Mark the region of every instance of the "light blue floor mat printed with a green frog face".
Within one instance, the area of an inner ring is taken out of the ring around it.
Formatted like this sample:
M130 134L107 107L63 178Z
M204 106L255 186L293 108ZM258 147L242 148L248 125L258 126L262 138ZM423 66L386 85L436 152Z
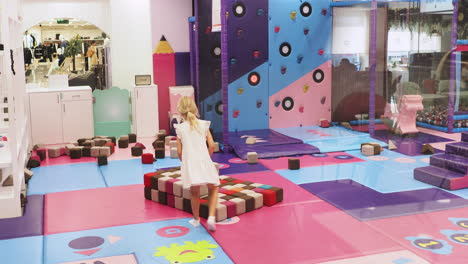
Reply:
M172 245L176 246L175 244L177 244L176 247L181 251L198 251L201 255L200 257L203 258L203 260L199 262L191 262L202 264L233 263L222 250L221 246L216 243L203 227L194 228L188 223L188 220L189 219L177 219L49 235L46 236L44 240L44 263L55 264L128 254L134 254L136 259L138 259L138 263L172 263L164 256L154 256L154 254L160 247L169 248ZM92 240L89 239L89 237L95 238ZM75 242L72 243L72 245L79 244L83 246L80 247L80 249L71 248L69 243L73 240L75 240ZM187 248L178 247L187 245L187 242L196 244L198 241L207 241L207 243L212 245L212 248L196 248L193 247L193 245ZM92 247L87 248L88 246ZM88 249L99 250L90 256L77 253L81 250ZM188 257L190 256L189 254L195 253L182 255ZM211 257L207 258L208 256ZM193 255L191 257L193 257ZM189 263L188 261L184 262L183 259L175 259L175 261Z

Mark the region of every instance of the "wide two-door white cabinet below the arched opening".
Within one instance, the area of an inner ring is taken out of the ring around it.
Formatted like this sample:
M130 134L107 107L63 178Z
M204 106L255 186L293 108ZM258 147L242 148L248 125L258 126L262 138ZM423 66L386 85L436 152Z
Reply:
M28 90L33 144L56 144L94 135L88 86Z

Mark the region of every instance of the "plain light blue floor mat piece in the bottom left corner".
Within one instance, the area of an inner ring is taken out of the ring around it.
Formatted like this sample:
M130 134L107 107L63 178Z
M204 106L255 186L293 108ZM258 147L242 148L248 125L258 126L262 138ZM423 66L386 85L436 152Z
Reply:
M2 264L42 264L42 259L42 236L0 240Z

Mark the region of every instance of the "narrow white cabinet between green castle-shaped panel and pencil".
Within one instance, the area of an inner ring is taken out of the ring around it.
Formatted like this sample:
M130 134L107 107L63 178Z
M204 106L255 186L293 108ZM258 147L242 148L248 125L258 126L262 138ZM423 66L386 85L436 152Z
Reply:
M158 87L134 86L133 130L139 137L152 137L159 131Z

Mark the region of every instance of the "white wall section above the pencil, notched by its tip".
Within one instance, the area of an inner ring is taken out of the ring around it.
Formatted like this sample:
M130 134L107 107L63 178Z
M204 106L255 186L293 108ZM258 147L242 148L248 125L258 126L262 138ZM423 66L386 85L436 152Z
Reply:
M175 52L190 51L188 18L192 0L151 0L153 51L164 35Z

